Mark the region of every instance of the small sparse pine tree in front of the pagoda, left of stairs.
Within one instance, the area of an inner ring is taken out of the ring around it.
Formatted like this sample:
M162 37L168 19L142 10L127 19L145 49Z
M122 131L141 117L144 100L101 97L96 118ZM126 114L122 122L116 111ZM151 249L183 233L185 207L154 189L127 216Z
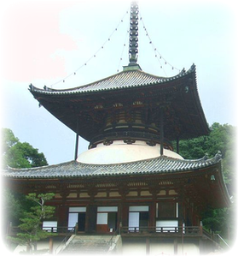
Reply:
M49 237L46 230L42 229L44 219L53 217L55 207L45 205L47 201L55 196L54 193L29 193L26 199L34 202L31 211L26 211L24 217L20 219L21 223L18 226L20 232L16 237L7 236L9 241L14 241L20 245L26 245L26 253L32 253L32 248L37 250L37 241Z

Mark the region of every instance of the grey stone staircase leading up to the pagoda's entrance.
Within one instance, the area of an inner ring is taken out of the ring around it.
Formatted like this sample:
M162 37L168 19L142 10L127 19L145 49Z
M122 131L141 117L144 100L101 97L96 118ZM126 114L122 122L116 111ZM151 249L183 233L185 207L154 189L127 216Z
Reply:
M58 256L106 256L111 244L110 235L75 235Z

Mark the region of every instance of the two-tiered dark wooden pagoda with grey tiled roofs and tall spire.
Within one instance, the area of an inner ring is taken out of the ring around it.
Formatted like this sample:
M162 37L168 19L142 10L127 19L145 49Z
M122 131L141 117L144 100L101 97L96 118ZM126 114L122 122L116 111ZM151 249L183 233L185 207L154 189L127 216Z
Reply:
M30 86L39 104L75 132L75 159L9 167L1 182L20 193L55 193L49 202L55 217L43 223L58 234L50 238L50 253L73 230L67 247L76 237L110 235L117 238L113 255L204 255L218 244L203 229L202 213L227 207L230 199L219 153L193 160L179 155L179 140L209 134L196 68L173 77L142 71L138 0L131 0L130 22L130 62L120 73L67 90ZM78 136L90 142L79 156Z

